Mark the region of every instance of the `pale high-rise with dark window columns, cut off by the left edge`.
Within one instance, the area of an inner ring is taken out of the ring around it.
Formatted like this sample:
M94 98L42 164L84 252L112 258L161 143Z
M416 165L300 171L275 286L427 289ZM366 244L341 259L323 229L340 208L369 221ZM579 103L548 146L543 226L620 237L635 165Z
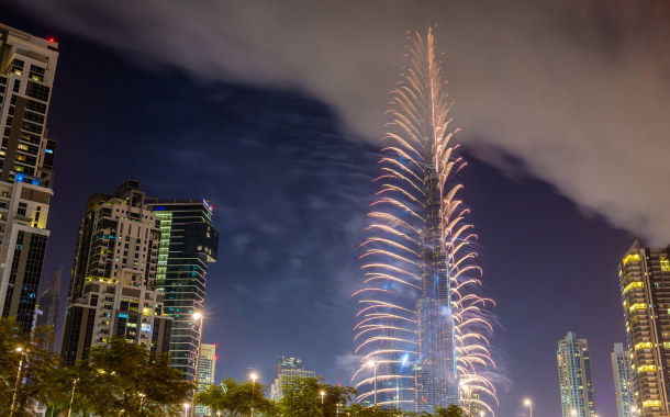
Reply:
M58 44L0 24L0 307L27 331L49 230L56 142L47 139Z

